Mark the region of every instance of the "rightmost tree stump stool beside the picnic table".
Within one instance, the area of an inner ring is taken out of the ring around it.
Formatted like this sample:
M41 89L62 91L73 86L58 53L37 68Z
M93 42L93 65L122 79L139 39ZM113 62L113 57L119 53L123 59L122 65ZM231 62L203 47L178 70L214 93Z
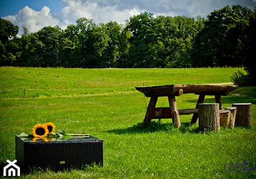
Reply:
M251 125L251 103L233 103L232 107L237 107L237 126L249 127Z

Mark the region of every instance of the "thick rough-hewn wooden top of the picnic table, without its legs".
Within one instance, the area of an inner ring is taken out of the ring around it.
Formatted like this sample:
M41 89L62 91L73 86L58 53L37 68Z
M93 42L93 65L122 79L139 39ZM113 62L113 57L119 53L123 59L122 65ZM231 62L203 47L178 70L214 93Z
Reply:
M238 88L238 85L222 84L170 84L162 86L138 86L138 91L144 93L146 97L155 96L180 96L181 94L194 93L196 95L221 95L226 96L229 92ZM180 90L182 89L182 91ZM181 92L179 92L181 91ZM183 92L183 93L182 93Z

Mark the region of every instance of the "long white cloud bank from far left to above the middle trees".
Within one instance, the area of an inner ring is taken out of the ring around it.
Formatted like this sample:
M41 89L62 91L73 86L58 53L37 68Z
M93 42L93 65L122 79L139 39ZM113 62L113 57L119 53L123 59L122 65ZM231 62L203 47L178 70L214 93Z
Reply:
M37 32L46 26L59 26L65 29L69 24L74 24L80 17L93 19L96 24L108 23L110 20L117 23L125 23L126 19L143 12L139 9L118 9L117 5L109 5L104 1L82 1L82 0L62 0L66 7L61 10L62 16L52 14L49 7L44 6L40 11L35 11L28 6L19 10L16 15L3 17L19 27L18 36L23 33L23 26L29 27L30 32ZM104 6L103 6L104 5Z

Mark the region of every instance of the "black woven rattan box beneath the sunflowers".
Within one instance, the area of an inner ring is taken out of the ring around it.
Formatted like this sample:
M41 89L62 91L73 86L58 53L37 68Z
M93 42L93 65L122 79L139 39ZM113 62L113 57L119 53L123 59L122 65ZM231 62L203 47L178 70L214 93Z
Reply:
M54 142L33 142L16 136L15 141L17 165L22 172L34 167L62 170L94 163L103 166L103 140L92 136Z

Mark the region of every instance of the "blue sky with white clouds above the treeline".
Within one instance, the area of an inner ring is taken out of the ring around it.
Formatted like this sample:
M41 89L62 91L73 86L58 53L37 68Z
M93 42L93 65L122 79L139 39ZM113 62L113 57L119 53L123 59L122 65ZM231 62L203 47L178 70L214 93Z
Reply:
M154 15L206 17L215 9L239 4L252 9L256 0L0 0L0 17L19 27L36 32L45 26L65 29L80 17L96 24L110 20L125 23L141 12Z

